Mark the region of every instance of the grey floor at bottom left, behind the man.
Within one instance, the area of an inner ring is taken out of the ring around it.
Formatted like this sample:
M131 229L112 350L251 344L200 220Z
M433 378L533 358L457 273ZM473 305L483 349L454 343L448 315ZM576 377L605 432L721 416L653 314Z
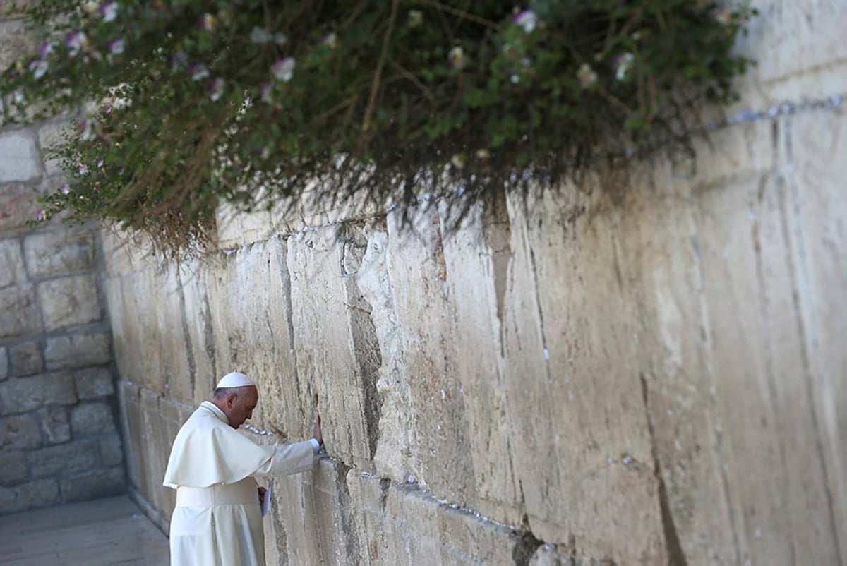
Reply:
M0 517L4 566L168 563L168 538L125 496Z

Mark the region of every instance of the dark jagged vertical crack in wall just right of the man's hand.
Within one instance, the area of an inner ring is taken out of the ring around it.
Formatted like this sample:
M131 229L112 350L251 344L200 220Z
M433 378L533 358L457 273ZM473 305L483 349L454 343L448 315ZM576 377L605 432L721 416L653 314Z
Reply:
M368 452L370 452L368 459L373 461L379 443L379 415L382 408L382 396L376 386L379 380L379 368L382 367L382 354L379 351L376 326L371 318L372 307L358 287L356 275L367 249L367 241L359 242L354 239L355 236L362 234L361 230L353 233L356 228L361 229L361 226L347 228L346 231L350 233L351 238L344 237L345 234L339 234L344 237L340 269L346 288L353 357L362 386L365 432L368 436Z

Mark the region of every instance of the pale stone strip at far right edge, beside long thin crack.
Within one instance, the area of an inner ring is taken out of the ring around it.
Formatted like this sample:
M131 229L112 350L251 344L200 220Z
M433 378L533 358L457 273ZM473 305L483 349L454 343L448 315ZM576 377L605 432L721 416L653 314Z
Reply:
M844 163L847 119L841 112L811 112L781 123L785 153L781 167L788 184L781 193L792 246L796 301L802 325L795 363L805 375L822 459L828 479L832 530L847 562L847 336L844 293L847 291L847 164ZM796 350L795 350L796 352ZM798 391L799 393L799 391ZM809 437L806 437L809 438ZM811 438L809 438L811 441ZM810 447L811 448L811 447ZM811 452L811 451L810 451ZM808 453L808 452L807 452ZM800 463L792 463L794 473ZM795 476L794 476L795 477ZM800 502L800 500L798 500ZM819 515L826 513L818 508ZM810 539L813 544L814 539ZM808 547L807 547L808 548Z

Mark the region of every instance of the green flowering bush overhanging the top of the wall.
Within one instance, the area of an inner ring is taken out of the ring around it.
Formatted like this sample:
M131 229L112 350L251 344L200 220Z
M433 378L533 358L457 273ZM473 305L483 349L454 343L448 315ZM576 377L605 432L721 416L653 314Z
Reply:
M69 184L47 216L181 247L221 201L293 201L315 181L328 201L462 187L473 202L687 144L698 104L728 102L748 64L731 50L750 14L711 0L42 0L44 43L0 92L26 119L91 101L54 150Z

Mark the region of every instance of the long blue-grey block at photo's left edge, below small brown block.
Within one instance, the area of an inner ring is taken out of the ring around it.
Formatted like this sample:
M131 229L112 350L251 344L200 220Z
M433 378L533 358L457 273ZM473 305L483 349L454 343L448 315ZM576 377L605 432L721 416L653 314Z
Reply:
M23 413L49 403L73 405L74 380L61 372L22 377L0 384L0 413Z

